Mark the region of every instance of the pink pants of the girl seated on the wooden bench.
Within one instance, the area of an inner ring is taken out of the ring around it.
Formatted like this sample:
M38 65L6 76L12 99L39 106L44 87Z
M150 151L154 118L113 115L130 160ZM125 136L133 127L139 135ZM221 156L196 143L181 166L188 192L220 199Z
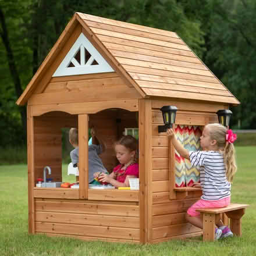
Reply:
M199 217L200 218L200 212L195 211L195 209L199 208L222 208L226 207L230 204L230 196L225 197L221 200L216 201L207 201L200 199L197 202L195 202L191 207L187 210L187 214L189 214L192 217Z

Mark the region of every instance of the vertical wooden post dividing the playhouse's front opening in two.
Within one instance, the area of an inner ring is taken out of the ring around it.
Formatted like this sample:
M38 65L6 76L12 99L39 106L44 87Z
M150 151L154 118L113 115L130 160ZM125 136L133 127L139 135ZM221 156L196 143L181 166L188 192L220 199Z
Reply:
M78 116L79 198L81 199L88 199L88 120L87 114Z

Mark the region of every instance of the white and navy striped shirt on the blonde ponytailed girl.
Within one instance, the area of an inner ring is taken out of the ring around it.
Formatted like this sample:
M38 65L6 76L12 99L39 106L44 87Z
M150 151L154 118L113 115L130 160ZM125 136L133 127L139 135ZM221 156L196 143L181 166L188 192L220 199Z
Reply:
M203 200L220 200L230 196L223 154L218 151L190 151L191 167L200 167Z

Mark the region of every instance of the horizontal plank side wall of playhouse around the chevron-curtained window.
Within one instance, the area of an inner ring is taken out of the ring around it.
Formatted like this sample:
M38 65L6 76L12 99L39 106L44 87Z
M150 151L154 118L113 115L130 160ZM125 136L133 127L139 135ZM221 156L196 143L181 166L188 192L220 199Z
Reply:
M159 110L163 105L178 106L175 123L180 125L205 125L208 122L217 122L216 111L220 107L223 108L220 105L192 102L188 105L182 101L152 101L152 243L201 233L201 229L187 223L185 219L187 209L200 198L201 190L172 189L171 183L175 177L170 175L169 167L173 163L169 155L170 144L166 133L158 133L158 125L163 125L162 113Z

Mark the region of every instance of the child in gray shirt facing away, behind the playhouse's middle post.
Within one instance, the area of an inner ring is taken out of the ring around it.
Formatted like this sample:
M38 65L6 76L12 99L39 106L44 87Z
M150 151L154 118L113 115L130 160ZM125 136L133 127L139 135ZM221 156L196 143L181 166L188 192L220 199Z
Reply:
M91 128L91 137L93 142L88 145L88 183L94 181L94 172L107 173L108 171L104 167L99 154L103 153L106 149L105 143L95 136L94 128ZM74 167L79 168L79 143L78 143L78 130L71 128L69 130L69 141L73 145L74 150L70 152L70 158Z

